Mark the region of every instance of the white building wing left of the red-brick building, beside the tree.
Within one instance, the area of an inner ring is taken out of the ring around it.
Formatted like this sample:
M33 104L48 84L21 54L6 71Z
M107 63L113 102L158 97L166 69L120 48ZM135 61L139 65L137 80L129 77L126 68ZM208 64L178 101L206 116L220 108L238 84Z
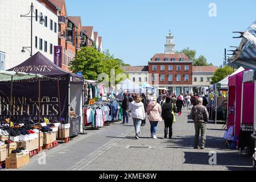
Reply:
M122 67L129 79L137 85L148 83L148 66L127 66Z

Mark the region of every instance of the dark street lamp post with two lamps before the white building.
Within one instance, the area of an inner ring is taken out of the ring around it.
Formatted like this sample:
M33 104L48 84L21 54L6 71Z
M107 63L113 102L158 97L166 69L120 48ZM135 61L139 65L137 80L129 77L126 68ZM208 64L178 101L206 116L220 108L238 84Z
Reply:
M35 14L35 16L33 16L33 13ZM30 14L30 15L29 15ZM33 52L32 52L32 44L33 44L33 18L40 18L40 23L44 23L44 18L43 18L43 15L42 16L38 16L35 11L34 11L34 5L33 3L31 3L31 6L30 6L30 12L26 15L20 15L20 17L26 17L26 18L30 18L31 19L31 32L30 32L30 36L31 36L31 40L30 40L30 47L22 47L22 53L26 52L25 49L27 49L29 51L28 48L30 48L30 56L32 56Z

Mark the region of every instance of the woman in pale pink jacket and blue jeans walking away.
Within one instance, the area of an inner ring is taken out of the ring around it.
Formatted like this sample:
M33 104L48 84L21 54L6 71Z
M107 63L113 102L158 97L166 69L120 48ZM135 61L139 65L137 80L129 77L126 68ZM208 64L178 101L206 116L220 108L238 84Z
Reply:
M150 121L150 132L151 132L151 137L154 139L156 138L156 130L158 126L159 121L163 121L161 117L161 106L156 102L157 98L154 97L153 101L150 102L150 104L147 106L147 115L148 119Z

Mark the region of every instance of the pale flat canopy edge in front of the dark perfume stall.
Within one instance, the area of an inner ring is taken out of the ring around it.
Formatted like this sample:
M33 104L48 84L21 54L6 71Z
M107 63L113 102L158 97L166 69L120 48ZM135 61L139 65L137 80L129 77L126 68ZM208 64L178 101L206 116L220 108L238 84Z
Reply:
M40 78L43 77L42 75L39 75L39 74L0 70L0 81L11 81L11 76L13 76L14 81L25 80L28 78L35 78L35 77L40 77Z

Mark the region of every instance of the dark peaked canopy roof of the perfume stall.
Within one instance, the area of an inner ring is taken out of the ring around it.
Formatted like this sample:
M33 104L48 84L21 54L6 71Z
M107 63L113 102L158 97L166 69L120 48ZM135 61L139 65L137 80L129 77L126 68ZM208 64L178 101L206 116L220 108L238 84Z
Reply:
M69 73L50 61L42 53L37 52L23 63L7 71L40 74L47 77L70 77L71 82L83 82L82 76ZM68 81L68 79L67 79Z

